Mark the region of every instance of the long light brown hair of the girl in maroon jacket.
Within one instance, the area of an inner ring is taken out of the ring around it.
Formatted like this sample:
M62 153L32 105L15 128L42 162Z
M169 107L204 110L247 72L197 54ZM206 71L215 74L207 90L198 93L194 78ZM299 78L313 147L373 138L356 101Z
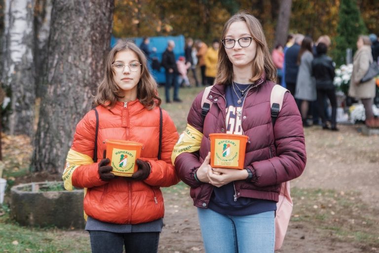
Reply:
M266 74L266 79L276 82L276 68L272 63L271 54L268 50L265 34L261 23L253 15L239 12L225 23L221 38L224 39L229 27L232 23L244 21L250 31L253 40L257 44L257 53L253 61L253 76L251 82L259 80L263 74ZM221 44L219 48L219 57L217 61L217 84L230 84L233 79L233 65L227 58L225 47Z

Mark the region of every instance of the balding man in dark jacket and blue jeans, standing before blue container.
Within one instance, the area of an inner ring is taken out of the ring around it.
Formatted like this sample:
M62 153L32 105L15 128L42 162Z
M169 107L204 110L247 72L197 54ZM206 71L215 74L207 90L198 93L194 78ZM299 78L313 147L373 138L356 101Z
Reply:
M171 103L170 99L170 89L174 86L174 102L182 102L179 98L179 82L178 76L179 71L176 65L175 54L174 54L174 41L168 41L166 51L163 52L161 65L166 71L166 85L165 85L165 95L166 103Z

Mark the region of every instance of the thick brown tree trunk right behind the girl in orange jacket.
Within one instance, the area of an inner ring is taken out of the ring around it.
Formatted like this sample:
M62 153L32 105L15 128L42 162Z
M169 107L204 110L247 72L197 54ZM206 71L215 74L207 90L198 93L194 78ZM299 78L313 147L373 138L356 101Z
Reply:
M113 9L113 0L53 1L34 171L64 169L76 124L103 77Z

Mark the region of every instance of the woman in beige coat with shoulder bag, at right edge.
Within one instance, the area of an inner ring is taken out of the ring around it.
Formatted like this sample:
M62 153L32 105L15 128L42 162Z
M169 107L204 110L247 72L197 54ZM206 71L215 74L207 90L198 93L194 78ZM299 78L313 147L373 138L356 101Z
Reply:
M357 41L358 50L353 58L353 72L351 74L349 96L355 97L362 101L365 107L367 127L379 127L379 119L374 117L373 102L375 97L375 79L362 82L362 78L369 70L370 64L373 62L371 53L371 40L368 36L360 35Z

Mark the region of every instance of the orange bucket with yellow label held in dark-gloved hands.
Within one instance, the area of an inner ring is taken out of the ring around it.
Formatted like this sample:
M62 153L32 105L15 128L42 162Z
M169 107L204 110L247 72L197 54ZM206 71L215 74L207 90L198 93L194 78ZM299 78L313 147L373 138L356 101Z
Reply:
M142 144L125 140L106 140L105 143L112 172L117 176L132 176L137 170L136 159L140 158Z

